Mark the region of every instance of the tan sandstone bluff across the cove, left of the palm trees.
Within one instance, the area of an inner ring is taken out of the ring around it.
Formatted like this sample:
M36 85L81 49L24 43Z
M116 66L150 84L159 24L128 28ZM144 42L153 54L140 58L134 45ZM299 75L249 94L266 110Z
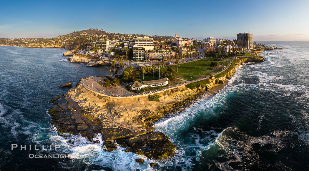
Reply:
M103 60L93 55L74 54L68 59L70 62L87 63L87 66L110 66L111 65L110 61Z

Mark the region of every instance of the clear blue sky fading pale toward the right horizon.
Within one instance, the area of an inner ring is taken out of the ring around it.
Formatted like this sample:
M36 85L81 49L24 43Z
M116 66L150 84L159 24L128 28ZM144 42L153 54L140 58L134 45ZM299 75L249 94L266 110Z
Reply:
M89 28L125 34L309 41L309 0L2 1L0 38L52 38Z

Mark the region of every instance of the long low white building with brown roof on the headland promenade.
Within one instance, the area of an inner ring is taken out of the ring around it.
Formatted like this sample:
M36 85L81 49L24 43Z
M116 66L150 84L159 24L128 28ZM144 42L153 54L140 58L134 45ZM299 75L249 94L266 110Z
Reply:
M142 81L142 83L138 81L133 81L128 84L129 88L132 88L132 90L141 90L145 87L158 87L158 86L166 86L168 84L168 79L156 79L151 81Z

